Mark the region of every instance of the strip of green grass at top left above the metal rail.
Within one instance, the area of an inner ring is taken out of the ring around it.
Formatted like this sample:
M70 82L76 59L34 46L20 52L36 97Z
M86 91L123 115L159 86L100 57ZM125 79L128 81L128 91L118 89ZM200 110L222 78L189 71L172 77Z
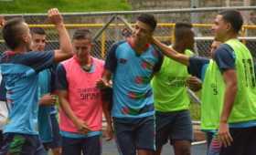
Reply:
M0 0L0 14L46 13L57 7L60 12L131 10L126 0Z

